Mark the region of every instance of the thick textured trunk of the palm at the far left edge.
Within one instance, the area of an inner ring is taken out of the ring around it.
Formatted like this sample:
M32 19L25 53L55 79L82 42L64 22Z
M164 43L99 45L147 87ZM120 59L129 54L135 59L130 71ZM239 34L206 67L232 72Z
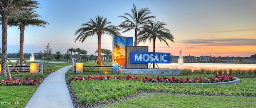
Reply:
M5 60L7 57L7 21L8 17L2 17L2 65L0 76L7 76Z

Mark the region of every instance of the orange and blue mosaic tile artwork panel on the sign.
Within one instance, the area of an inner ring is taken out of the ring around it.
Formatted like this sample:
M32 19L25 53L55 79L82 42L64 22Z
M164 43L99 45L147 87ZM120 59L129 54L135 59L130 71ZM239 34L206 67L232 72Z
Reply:
M113 72L119 72L120 69L125 67L125 46L133 46L133 37L113 37Z

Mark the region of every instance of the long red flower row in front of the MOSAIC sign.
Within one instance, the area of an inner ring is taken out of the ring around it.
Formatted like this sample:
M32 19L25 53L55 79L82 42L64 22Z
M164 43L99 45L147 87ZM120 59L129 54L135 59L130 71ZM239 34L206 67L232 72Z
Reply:
M167 78L167 77L162 77L160 78L159 76L157 78L151 78L145 76L145 78L142 78L142 76L137 77L137 76L126 76L126 77L119 77L119 76L88 76L88 77L82 77L82 76L77 76L77 77L72 77L70 81L76 81L80 82L82 80L139 80L143 82L166 82L166 83L214 83L214 82L228 82L232 80L236 80L231 75L225 75L225 74L217 74L214 78L175 78L173 76L172 78Z

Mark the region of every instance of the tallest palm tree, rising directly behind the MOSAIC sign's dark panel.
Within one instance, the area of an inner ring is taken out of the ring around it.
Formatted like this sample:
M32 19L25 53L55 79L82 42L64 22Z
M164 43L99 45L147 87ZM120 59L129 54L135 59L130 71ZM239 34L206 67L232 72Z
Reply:
M125 29L122 33L135 29L134 46L137 46L138 31L140 32L141 27L147 24L147 20L149 20L150 18L155 18L155 16L147 16L150 13L152 12L150 12L148 8L141 8L137 13L136 6L133 4L132 14L124 13L124 15L127 15L128 17L118 16L118 18L121 17L125 19L124 22L118 25L121 30Z

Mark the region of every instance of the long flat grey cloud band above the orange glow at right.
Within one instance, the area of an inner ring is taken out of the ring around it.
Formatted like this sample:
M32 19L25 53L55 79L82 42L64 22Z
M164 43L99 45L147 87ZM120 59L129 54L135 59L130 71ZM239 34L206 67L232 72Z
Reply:
M226 39L197 39L179 41L181 44L203 44L204 46L256 46L256 39L226 38Z

